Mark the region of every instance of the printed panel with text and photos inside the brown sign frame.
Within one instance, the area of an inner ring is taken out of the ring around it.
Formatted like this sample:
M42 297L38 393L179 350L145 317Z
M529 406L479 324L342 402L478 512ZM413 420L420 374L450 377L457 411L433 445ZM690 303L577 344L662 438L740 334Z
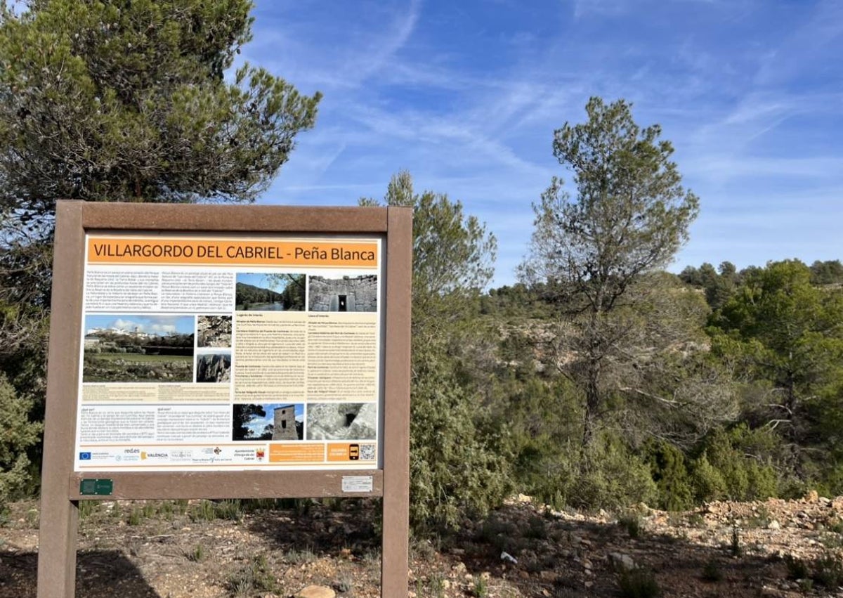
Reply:
M76 471L381 466L379 237L87 234Z

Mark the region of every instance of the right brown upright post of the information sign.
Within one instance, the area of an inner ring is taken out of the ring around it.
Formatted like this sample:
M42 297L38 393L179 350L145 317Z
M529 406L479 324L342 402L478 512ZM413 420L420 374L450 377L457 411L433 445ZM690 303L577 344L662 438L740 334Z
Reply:
M412 211L389 207L384 366L382 596L405 596L410 543L410 315Z

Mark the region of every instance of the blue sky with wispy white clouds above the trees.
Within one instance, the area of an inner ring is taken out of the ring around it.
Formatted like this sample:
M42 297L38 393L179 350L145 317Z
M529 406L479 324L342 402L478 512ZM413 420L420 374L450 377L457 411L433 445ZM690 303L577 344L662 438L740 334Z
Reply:
M843 258L838 0L257 0L242 58L325 99L260 203L352 205L410 170L498 239L513 283L589 96L633 103L701 198L671 270Z

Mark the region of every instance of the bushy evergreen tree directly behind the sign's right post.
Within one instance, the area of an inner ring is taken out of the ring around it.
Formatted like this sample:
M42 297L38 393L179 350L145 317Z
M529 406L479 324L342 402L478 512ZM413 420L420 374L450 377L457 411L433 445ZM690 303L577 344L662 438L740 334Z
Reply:
M381 202L361 199L362 205ZM481 434L481 396L464 350L476 334L476 302L491 278L496 241L447 196L389 181L384 204L413 207L411 524L454 527L497 506L508 488L501 447Z

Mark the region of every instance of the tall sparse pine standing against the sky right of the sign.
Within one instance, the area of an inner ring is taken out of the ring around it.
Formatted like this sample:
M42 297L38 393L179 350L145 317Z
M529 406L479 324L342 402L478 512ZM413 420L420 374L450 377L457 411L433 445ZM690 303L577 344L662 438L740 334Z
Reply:
M561 331L576 331L569 358L557 363L583 393L583 455L609 406L609 364L624 358L618 349L627 326L615 315L631 305L631 288L644 274L673 259L698 209L658 125L638 127L624 100L592 98L586 112L588 121L566 123L553 142L573 172L576 197L554 177L534 205L535 230L520 268L527 282L554 283L566 320Z

